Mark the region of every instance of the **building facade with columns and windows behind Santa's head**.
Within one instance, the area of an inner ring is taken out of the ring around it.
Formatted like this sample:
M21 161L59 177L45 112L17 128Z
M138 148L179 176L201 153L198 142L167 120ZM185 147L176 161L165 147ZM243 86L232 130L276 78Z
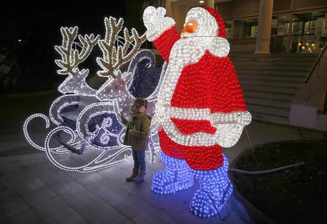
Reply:
M231 52L319 53L327 39L327 0L157 0L182 30L192 7L220 12Z

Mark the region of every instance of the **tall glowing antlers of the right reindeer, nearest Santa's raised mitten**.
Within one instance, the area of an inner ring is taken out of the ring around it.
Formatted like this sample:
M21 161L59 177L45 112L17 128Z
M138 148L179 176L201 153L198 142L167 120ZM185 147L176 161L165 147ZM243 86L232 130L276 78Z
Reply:
M141 44L145 41L146 36L143 34L139 36L135 29L132 29L132 35L129 36L128 29L124 29L124 45L115 46L115 39L118 33L123 27L124 20L120 18L117 22L117 19L114 17L104 18L105 24L105 38L99 40L99 46L103 52L103 57L97 58L98 65L103 69L98 71L97 74L100 76L111 76L115 78L113 74L115 70L125 63L127 63L132 57L138 52L141 47ZM132 50L127 53L130 45L133 46Z

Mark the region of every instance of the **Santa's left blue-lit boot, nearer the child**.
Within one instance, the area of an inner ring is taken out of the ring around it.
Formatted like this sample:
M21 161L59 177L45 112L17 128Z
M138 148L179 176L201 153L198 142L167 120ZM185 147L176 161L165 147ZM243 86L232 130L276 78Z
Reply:
M166 169L158 171L152 177L150 188L153 192L172 194L193 186L194 179L184 159L173 158L163 152L161 152L160 156Z

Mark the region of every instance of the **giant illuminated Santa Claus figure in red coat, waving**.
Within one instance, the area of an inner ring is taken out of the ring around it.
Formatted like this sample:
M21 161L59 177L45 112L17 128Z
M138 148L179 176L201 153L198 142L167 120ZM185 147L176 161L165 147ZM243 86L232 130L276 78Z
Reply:
M227 56L225 24L211 8L192 8L180 35L164 8L147 7L146 37L168 63L152 128L159 131L165 170L152 177L151 190L170 194L200 182L191 211L211 217L233 189L222 147L236 144L251 115L234 66Z

